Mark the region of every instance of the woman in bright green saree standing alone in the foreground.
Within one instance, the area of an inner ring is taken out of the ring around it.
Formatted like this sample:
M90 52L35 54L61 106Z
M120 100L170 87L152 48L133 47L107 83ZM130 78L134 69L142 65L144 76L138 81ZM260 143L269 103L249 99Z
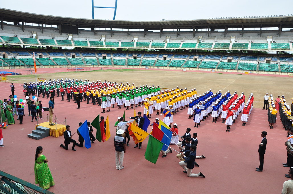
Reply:
M48 159L42 155L42 152L42 146L37 147L35 155L35 181L36 184L40 184L40 187L47 189L55 183L47 164Z

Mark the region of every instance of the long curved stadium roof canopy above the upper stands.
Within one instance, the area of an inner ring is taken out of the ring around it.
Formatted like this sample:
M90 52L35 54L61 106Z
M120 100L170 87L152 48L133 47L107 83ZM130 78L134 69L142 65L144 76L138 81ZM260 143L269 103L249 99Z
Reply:
M168 20L168 21L121 21L97 20L84 18L67 18L52 15L41 15L0 8L0 19L8 22L28 22L48 25L70 24L80 28L134 28L146 30L160 29L225 29L247 27L280 27L293 28L293 16L261 18L223 18L202 20Z

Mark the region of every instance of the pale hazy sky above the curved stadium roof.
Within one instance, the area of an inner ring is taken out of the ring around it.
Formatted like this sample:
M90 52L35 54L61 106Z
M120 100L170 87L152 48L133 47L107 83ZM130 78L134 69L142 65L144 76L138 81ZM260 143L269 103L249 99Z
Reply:
M50 2L50 3L48 3ZM209 1L137 1L118 0L115 20L196 20L292 14L290 0L209 0ZM115 0L94 0L94 6L115 6ZM92 19L91 0L2 1L1 7L16 11ZM273 9L273 10L272 10ZM95 19L113 20L114 9L94 8Z

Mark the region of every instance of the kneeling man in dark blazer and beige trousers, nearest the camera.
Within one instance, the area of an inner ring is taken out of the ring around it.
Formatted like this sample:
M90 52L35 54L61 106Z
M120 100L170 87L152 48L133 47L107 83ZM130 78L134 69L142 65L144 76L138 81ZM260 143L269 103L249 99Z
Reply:
M179 162L179 165L184 169L184 173L187 173L188 177L199 177L202 176L205 178L201 172L198 174L191 174L192 169L194 168L195 156L196 156L196 146L191 145L190 150L186 150L185 153L188 153L188 157L184 156L185 161Z

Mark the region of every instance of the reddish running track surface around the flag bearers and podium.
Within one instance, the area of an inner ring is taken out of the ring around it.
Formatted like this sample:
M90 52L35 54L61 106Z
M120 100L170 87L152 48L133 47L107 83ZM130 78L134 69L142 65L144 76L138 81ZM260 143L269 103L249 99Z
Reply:
M15 86L15 94L24 99L21 86ZM0 90L1 99L11 94L8 83L1 83ZM47 106L49 99L40 100L43 106ZM95 141L89 149L76 147L74 152L59 147L60 143L64 143L63 136L51 136L38 141L28 138L27 134L35 128L36 122L30 122L31 117L27 116L28 109L25 108L26 116L22 125L16 120L16 124L3 129L5 147L0 148L2 171L35 183L35 149L43 146L43 154L49 160L48 165L55 181L55 186L49 190L54 193L171 193L174 190L184 192L186 185L189 189L196 190L196 193L281 193L283 182L287 180L284 174L287 174L288 168L282 167L287 158L284 146L287 133L282 128L279 117L274 129L269 129L266 110L254 108L246 127L241 126L238 117L231 126L230 133L225 132L226 126L221 123L221 119L212 123L209 117L199 128L193 128L187 109L177 113L174 122L178 124L179 134L183 135L187 127L192 128L191 133L197 132L197 155L206 157L197 159L200 167L193 169L193 173L202 172L206 178L194 178L187 177L182 172L176 152L168 153L165 158L160 154L156 164L147 161L144 158L147 140L142 143L142 149L134 148L131 140L124 156L125 168L116 170L113 146L116 129L113 126L125 109L117 109L115 106L108 114L102 114L98 105L82 102L81 109L76 109L76 103L60 100L61 97L55 97L54 115L60 121L64 121L66 117L71 131L75 131L78 123L86 119L92 121L98 114L105 118L109 115L110 139L104 143ZM142 107L135 110L142 111ZM127 117L133 113L134 110L131 109L125 111ZM46 121L46 114L47 112L43 112L44 119L41 122ZM153 114L151 121L156 116L158 115ZM163 118L161 115L158 117ZM260 134L264 130L268 132L264 169L263 172L256 172L255 167L259 166ZM151 127L148 129L150 131ZM75 134L73 139L77 140L78 135ZM177 146L171 147L176 149Z

